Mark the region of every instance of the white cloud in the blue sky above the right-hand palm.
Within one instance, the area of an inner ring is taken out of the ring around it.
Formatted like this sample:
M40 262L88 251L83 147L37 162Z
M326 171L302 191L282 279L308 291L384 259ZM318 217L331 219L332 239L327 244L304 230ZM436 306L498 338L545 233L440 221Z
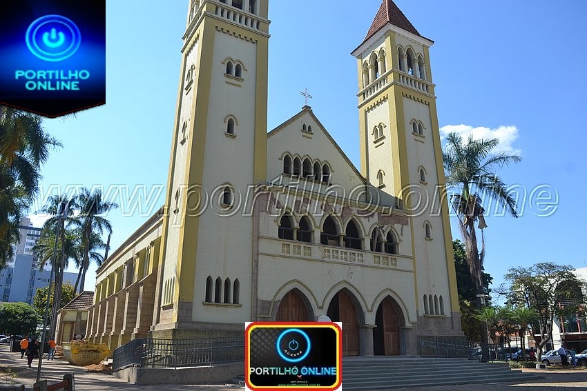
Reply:
M440 129L441 138L444 140L449 133L457 133L463 140L473 135L473 139L499 139L499 144L494 152L506 152L508 154L521 155L522 151L519 148L514 148L512 145L519 137L518 128L515 126L499 126L497 129L485 128L484 126L477 126L474 128L469 125L447 125Z

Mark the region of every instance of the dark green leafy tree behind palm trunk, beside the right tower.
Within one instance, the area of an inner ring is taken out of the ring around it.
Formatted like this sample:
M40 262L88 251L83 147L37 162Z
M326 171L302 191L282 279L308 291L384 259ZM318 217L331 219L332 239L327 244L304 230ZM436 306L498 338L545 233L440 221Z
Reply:
M459 306L461 308L461 327L470 341L481 341L481 323L475 317L479 307L477 305L477 291L471 281L465 245L454 239L452 241L452 253L454 254L454 265L456 269L456 286L459 291ZM483 292L489 295L489 285L493 278L489 273L483 272Z

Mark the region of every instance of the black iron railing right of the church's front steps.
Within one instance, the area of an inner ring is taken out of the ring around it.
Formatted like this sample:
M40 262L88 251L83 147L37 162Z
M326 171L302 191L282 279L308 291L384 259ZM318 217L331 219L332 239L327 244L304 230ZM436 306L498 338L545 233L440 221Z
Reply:
M446 337L420 341L422 357L461 358L477 361L506 361L506 345L480 343Z

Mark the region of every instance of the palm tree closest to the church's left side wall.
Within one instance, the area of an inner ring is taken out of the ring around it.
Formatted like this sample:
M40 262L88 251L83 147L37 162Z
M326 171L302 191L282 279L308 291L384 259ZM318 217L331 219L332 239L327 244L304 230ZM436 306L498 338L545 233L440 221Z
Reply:
M86 272L90 266L90 257L93 258L93 261L99 261L99 258L95 257L95 254L90 254L90 252L100 248L101 245L99 243L104 245L102 239L99 239L98 243L94 235L97 234L100 238L104 234L104 231L112 233L110 221L102 217L102 215L112 209L118 208L118 205L113 202L104 201L102 199L102 190L95 189L93 192L90 192L87 188L80 190L75 203L77 209L79 209L79 215L73 221L73 224L81 229L81 244L84 248L78 277L79 292L81 292L84 290ZM75 288L76 292L78 292L77 283L75 284Z

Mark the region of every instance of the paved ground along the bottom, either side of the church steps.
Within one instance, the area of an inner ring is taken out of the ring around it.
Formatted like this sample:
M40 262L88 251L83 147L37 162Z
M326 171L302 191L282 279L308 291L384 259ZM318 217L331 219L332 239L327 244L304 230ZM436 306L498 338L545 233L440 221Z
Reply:
M0 385L7 383L9 376L3 375L6 369L10 369L16 375L15 383L24 384L27 390L32 390L32 385L37 378L37 363L33 361L33 368L27 368L26 358L20 358L20 352L8 352L8 345L0 345ZM525 387L532 387L540 391L574 391L587 390L587 368L568 368L562 369L560 366L549 368L548 370L523 370L532 372L543 377L531 383L503 384L496 379L491 384L467 384L467 385L441 385L435 387L418 387L418 388L396 388L394 391L461 391L461 390L481 390L481 391L524 391ZM56 383L63 379L64 374L73 373L75 377L75 389L77 391L95 391L95 390L145 390L145 391L237 391L243 390L236 385L133 385L126 381L119 380L111 374L87 372L84 368L70 365L64 359L55 361L43 360L41 368L41 379L48 379L49 384ZM344 375L343 375L344 379ZM343 380L344 390L344 380ZM384 391L384 390L378 390ZM529 391L529 390L528 390Z

